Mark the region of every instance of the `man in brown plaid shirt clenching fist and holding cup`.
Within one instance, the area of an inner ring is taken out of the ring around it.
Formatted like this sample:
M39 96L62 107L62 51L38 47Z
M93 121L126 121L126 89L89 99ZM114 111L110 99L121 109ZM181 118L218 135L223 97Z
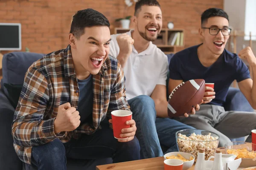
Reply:
M34 62L12 124L19 158L39 170L66 170L66 158L140 159L134 120L113 137L111 111L130 110L121 65L109 56L108 19L98 11L78 11L69 45Z

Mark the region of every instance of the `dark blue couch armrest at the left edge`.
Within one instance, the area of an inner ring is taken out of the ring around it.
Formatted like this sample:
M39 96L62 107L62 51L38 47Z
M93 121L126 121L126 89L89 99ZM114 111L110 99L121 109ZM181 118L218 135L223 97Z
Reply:
M0 90L0 170L22 170L12 138L12 120L15 109Z

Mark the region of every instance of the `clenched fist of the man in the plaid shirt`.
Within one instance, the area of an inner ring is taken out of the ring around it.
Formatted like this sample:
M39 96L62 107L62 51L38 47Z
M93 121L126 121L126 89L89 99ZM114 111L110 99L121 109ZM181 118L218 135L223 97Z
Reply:
M79 111L65 103L58 107L58 114L54 120L54 133L69 132L80 125Z

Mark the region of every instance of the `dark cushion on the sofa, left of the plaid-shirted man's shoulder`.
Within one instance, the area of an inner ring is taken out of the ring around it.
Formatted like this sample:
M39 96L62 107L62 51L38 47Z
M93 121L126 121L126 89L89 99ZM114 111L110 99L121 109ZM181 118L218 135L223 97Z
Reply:
M19 98L20 98L20 92L22 90L23 85L13 85L9 83L4 83L4 87L8 91L8 99L11 102L12 106L14 108L17 107Z

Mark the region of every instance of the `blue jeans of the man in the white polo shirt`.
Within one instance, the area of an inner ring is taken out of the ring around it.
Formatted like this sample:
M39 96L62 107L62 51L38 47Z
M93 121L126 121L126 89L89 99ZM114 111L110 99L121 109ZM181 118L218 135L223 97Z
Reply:
M157 117L154 100L149 96L137 96L128 100L128 103L136 122L141 159L178 151L175 133L183 129L195 129L174 119Z

